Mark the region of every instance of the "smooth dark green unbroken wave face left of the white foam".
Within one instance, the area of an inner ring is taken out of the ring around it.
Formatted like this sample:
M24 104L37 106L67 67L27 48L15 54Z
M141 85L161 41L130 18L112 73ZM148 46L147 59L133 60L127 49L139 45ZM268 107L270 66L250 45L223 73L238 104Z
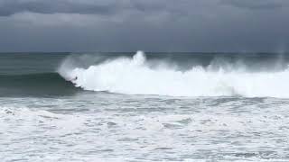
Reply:
M0 95L67 95L79 91L58 73L0 75Z

